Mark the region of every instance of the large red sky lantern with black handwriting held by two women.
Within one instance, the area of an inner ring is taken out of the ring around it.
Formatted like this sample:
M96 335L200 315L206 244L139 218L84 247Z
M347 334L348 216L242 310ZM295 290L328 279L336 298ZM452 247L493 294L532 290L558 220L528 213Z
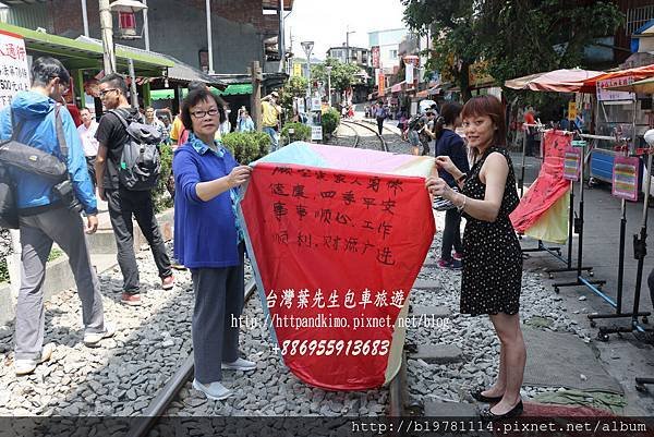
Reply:
M252 166L241 220L284 363L326 389L388 383L435 232L434 159L296 142Z

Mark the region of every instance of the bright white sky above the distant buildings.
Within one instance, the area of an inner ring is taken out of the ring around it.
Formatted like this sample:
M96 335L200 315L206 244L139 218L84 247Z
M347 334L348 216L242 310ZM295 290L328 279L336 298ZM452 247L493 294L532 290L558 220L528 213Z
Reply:
M342 46L346 32L350 46L368 47L368 32L405 27L400 0L295 0L286 19L287 47L293 39L293 53L304 58L301 41L313 40L312 58L325 59L329 47ZM288 13L288 12L287 12Z

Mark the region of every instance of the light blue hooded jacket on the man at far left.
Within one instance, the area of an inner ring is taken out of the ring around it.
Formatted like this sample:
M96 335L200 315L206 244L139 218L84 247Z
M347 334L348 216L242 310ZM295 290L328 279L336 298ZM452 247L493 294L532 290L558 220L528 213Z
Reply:
M23 144L36 147L61 159L55 124L55 100L35 92L20 92L11 102L14 122L23 121L22 131L16 138ZM60 110L63 133L69 148L66 167L73 182L75 195L84 205L86 214L97 214L97 202L86 168L84 149L80 134L68 109ZM0 139L11 138L13 129L9 108L0 112ZM59 201L52 194L52 182L43 177L19 169L11 169L11 175L17 186L19 208L32 208L49 205Z

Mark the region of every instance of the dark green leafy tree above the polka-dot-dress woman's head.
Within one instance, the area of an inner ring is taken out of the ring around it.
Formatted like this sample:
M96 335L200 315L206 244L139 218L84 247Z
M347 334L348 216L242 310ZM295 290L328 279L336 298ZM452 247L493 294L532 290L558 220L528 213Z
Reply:
M549 70L581 66L595 37L623 22L610 1L402 0L404 22L434 35L427 69L449 74L470 97L469 71L484 60L500 84Z

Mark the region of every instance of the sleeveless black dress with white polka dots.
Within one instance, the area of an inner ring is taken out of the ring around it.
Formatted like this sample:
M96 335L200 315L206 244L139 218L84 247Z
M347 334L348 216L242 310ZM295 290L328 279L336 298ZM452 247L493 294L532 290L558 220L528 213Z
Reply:
M484 161L493 151L500 153L509 165L509 174L497 220L477 220L463 214L463 271L461 277L461 314L517 314L522 282L522 252L509 219L520 202L509 153L489 147L474 163L463 185L469 198L484 199L486 185L480 180Z

